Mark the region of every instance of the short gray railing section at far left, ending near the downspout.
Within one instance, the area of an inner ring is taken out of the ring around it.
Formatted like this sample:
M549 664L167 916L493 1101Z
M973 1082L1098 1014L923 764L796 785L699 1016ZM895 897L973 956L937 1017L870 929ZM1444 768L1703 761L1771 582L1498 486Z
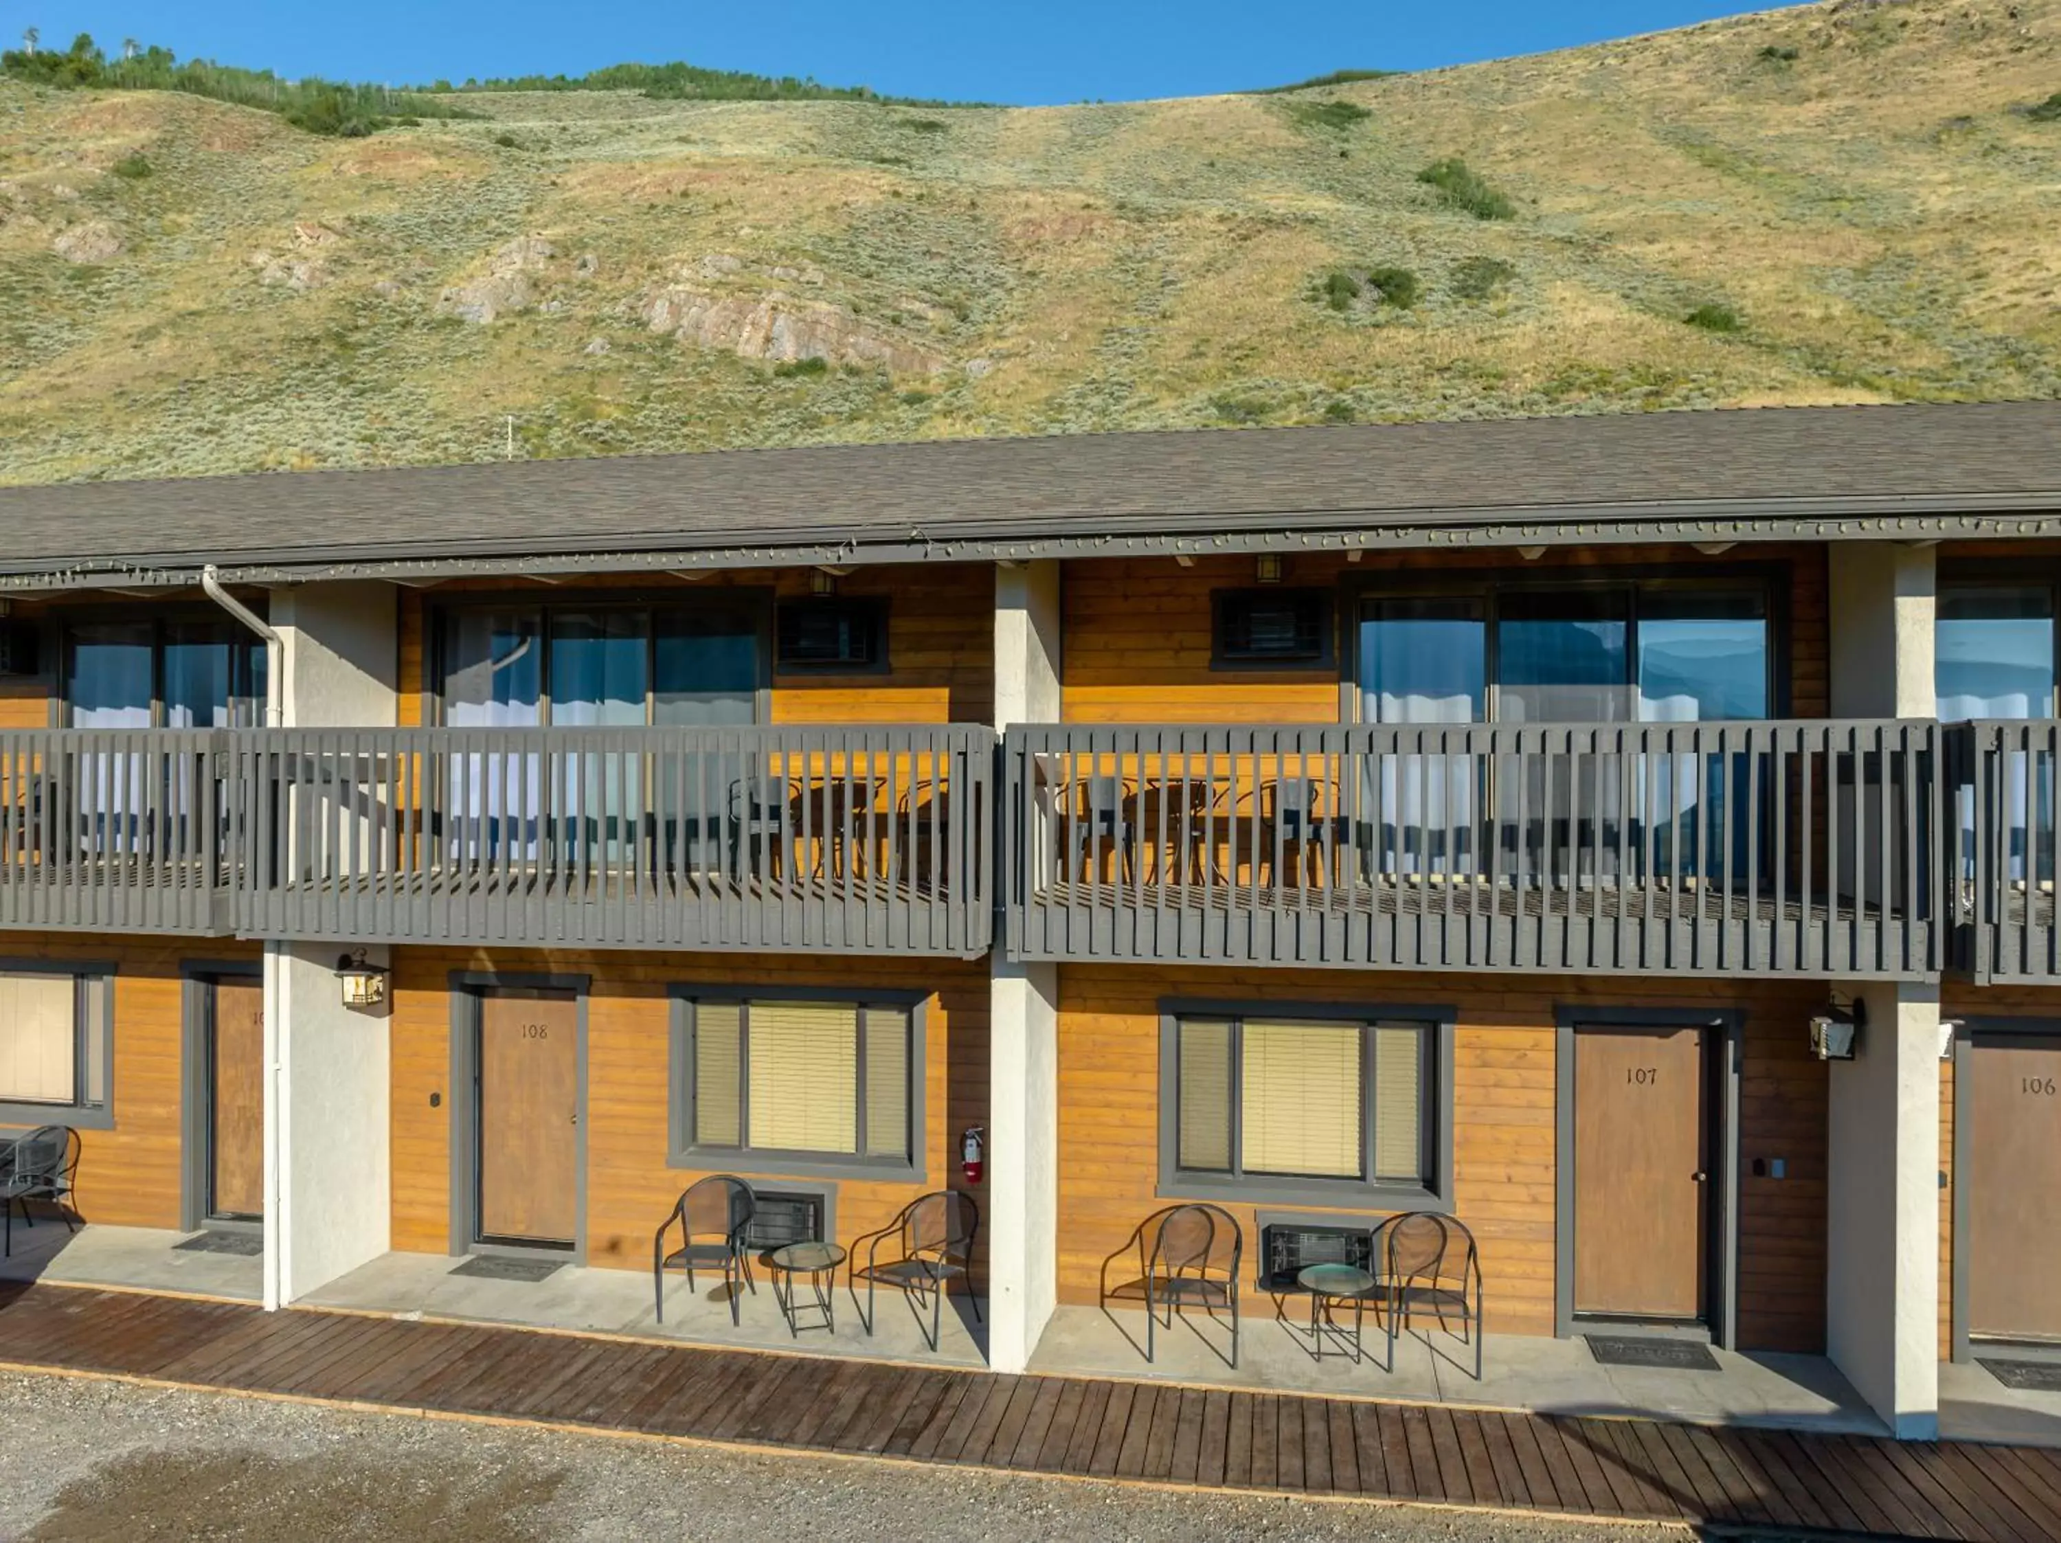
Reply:
M231 929L223 738L0 733L0 927Z

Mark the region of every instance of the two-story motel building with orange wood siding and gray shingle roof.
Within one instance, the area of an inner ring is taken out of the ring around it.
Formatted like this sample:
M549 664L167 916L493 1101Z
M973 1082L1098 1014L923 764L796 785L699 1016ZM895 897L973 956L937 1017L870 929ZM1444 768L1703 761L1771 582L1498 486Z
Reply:
M0 597L12 1279L2061 1419L2057 404L6 488Z

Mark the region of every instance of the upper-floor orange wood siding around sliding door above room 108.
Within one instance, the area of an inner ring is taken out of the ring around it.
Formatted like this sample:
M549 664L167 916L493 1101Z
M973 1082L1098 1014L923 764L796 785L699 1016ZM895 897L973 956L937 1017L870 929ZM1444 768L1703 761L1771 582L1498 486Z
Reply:
M682 581L668 575L606 575L577 585L536 585L538 604L577 604L581 591L668 591L690 599L715 589L767 589L777 597L810 593L814 569L723 571ZM404 589L400 602L400 725L431 721L427 616L468 593L507 593L505 579L466 579L435 589ZM837 581L837 593L888 599L888 672L775 676L773 723L987 723L995 700L995 581L979 564L864 567Z

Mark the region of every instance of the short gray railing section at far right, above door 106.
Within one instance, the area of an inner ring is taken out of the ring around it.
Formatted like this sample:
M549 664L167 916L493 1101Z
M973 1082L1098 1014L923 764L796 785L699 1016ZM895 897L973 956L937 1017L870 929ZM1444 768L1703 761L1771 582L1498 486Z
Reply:
M2055 808L2061 723L1985 721L1948 731L1954 818L1948 820L1956 964L1976 981L2061 976L2055 927Z

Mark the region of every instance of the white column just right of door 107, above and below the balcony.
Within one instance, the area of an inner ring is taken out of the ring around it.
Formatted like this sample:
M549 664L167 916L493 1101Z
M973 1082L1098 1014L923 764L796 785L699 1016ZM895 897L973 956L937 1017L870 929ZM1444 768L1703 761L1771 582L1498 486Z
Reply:
M1931 546L1830 548L1832 717L1933 717ZM1830 1067L1826 1347L1902 1438L1939 1430L1939 989L1876 981ZM1801 1032L1801 1024L1797 1026Z

